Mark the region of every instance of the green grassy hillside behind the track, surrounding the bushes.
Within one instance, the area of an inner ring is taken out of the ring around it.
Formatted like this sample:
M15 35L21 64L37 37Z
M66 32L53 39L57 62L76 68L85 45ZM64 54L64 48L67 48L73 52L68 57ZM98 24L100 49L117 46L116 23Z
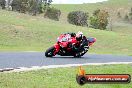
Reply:
M125 14L130 9L130 2L109 0L96 4L52 5L62 11L60 21L0 10L0 51L45 51L61 33L82 31L87 37L97 38L89 53L132 55L132 26L116 17L118 11ZM67 22L70 11L83 10L91 14L97 8L109 11L113 31L79 27Z

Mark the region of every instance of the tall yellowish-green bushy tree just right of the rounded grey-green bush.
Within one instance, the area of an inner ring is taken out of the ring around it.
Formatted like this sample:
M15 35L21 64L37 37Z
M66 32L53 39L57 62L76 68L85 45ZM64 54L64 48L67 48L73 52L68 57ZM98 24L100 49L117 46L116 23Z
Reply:
M90 24L91 27L95 29L106 29L106 26L108 25L108 17L109 14L105 10L95 10L93 13L93 16L90 17Z

